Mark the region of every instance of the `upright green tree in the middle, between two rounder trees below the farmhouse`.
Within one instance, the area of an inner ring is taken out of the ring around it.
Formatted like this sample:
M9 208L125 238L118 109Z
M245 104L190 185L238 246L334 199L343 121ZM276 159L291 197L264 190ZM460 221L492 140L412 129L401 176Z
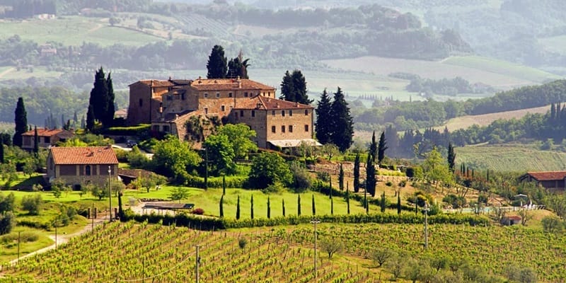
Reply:
M213 175L231 175L236 172L236 162L231 141L225 134L211 134L202 144L207 150L208 166ZM207 162L207 161L204 161Z

